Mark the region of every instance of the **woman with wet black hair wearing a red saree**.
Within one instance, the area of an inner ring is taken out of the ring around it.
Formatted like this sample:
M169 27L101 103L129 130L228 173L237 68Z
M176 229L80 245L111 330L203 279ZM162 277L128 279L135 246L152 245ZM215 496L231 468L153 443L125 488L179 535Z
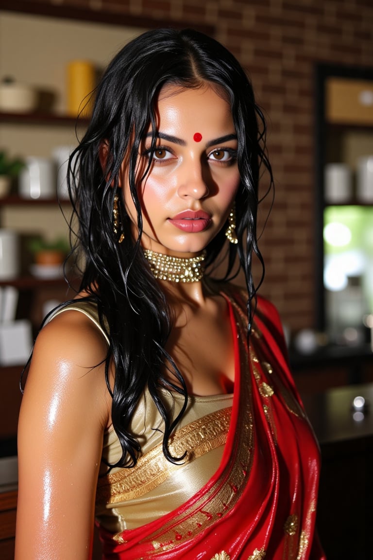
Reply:
M318 447L251 272L264 132L237 60L196 31L108 67L71 158L81 289L23 396L17 560L89 558L95 517L106 559L323 558Z

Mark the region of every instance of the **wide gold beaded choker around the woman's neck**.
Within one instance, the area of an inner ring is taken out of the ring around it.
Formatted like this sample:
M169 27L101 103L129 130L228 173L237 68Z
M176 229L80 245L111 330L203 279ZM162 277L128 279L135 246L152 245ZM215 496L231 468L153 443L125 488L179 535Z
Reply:
M203 262L206 251L199 256L183 259L178 256L163 255L144 249L154 278L168 280L169 282L199 282L204 277L205 267Z

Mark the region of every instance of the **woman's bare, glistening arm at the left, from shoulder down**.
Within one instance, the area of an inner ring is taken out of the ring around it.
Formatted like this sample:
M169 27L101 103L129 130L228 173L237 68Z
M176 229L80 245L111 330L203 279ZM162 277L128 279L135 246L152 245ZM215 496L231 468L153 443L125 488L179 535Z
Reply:
M77 311L39 334L18 425L16 560L91 558L102 438L110 422L106 343Z

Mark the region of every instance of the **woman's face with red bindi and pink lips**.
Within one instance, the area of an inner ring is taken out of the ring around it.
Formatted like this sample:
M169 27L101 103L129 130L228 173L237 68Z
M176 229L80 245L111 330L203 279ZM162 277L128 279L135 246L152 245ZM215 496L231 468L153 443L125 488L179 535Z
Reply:
M138 182L141 245L159 253L200 253L223 227L240 184L237 135L227 101L210 87L166 86L155 111L157 147ZM152 128L141 142L137 178L148 162ZM126 211L137 237L128 169L122 166Z

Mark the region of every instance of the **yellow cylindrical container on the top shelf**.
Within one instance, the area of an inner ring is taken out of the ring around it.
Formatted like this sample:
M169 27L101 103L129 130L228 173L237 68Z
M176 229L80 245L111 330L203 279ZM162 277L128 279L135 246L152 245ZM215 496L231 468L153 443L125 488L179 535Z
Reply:
M72 116L89 117L92 114L96 87L96 68L88 60L72 60L67 67L68 105Z

